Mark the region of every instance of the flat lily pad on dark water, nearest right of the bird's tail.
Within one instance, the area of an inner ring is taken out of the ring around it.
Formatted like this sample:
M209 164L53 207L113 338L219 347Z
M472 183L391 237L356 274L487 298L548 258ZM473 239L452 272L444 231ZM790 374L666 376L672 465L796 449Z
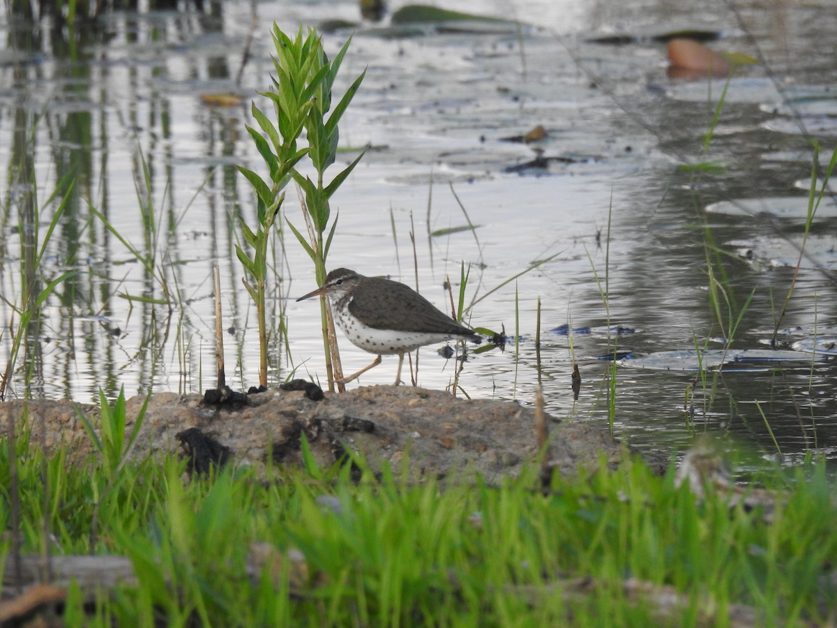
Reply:
M763 371L772 368L765 363L810 362L811 356L799 351L773 351L771 349L678 349L651 353L640 358L625 358L619 366L649 368L659 371L697 371L723 367L724 371ZM736 366L730 366L730 365Z

